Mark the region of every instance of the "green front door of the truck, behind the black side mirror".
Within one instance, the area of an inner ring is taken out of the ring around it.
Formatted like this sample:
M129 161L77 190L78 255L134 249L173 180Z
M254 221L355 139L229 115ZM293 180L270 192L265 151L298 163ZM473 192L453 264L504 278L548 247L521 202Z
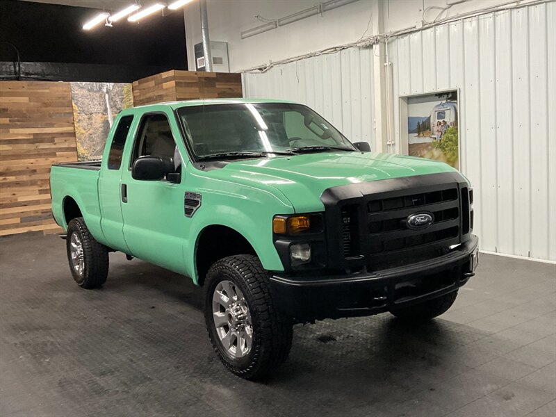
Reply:
M183 211L185 171L174 138L180 138L180 133L171 113L147 113L141 117L129 169L122 173L126 195L121 204L124 237L131 254L183 273L183 242L187 231ZM133 179L133 162L145 155L173 158L174 165L183 170L181 183Z

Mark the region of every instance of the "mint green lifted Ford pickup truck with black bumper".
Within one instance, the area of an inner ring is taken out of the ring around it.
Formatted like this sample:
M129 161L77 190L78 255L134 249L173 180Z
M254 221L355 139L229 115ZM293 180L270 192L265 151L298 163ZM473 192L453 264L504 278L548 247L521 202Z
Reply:
M478 261L459 172L370 152L286 101L126 109L101 162L52 167L51 194L79 286L102 286L115 251L190 277L247 379L286 359L295 323L439 316Z

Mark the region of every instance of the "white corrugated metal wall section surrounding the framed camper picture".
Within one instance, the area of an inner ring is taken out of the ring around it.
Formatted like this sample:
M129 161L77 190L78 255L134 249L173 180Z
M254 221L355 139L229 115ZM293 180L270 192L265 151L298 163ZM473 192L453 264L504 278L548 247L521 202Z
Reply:
M482 250L556 261L556 3L418 31L388 51L395 151L398 97L459 89Z

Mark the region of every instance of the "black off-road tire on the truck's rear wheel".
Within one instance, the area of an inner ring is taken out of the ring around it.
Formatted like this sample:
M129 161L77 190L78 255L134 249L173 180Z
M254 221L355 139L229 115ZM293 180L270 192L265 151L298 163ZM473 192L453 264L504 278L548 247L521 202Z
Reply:
M81 275L74 269L71 256L72 234L76 234L83 246L84 268ZM83 218L74 218L67 225L66 236L67 261L77 285L81 288L99 288L108 277L108 248L97 242L89 232Z

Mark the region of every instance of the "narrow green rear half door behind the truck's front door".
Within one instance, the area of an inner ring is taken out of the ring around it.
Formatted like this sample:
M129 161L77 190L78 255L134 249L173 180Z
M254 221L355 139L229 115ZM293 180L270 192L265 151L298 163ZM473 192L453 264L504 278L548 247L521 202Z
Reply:
M111 247L115 250L129 253L129 247L124 239L124 220L122 218L122 207L120 206L120 196L122 193L122 156L126 141L133 140L131 125L133 115L124 115L115 122L113 138L110 143L110 150L104 152L104 161L99 176L99 204L101 208L101 227L104 237Z

